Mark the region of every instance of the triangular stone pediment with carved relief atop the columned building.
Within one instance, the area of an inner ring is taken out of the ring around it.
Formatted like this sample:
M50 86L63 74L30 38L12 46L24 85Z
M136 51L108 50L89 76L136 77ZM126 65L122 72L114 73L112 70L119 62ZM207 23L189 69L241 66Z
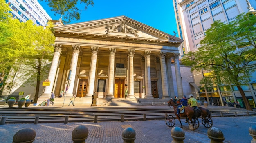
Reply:
M132 20L126 16L80 22L54 27L56 33L75 33L78 35L96 34L120 37L137 37L149 40L182 42L181 39Z

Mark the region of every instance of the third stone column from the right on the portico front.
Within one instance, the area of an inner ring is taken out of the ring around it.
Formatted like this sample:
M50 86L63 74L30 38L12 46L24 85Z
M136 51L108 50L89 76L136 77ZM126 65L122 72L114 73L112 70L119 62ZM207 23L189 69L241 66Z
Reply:
M145 57L145 98L153 98L151 91L151 71L150 71L150 55L151 51L144 51Z

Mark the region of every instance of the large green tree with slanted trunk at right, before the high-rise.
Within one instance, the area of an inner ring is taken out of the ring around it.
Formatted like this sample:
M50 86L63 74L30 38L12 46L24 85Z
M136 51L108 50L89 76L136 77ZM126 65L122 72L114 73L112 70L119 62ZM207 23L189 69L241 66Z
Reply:
M252 108L241 85L248 83L251 73L256 70L255 25L256 17L244 13L230 24L215 21L200 42L204 46L182 59L182 63L192 67L191 70L214 72L216 80L211 81L217 86L237 86L248 110Z

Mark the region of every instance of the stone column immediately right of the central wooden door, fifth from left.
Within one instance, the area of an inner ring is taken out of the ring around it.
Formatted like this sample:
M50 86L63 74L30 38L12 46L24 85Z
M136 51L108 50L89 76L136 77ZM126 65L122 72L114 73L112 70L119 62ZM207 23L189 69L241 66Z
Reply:
M135 50L128 49L128 96L127 98L135 98L134 96L134 73L133 73L133 56Z

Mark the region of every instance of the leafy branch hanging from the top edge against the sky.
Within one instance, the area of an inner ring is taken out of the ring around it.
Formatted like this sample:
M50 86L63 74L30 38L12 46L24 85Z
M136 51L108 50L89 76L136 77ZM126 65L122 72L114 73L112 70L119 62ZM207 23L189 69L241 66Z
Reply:
M70 23L72 20L80 20L80 15L83 10L86 10L90 5L93 7L92 0L41 0L48 2L51 11L54 15L62 15L63 23Z

